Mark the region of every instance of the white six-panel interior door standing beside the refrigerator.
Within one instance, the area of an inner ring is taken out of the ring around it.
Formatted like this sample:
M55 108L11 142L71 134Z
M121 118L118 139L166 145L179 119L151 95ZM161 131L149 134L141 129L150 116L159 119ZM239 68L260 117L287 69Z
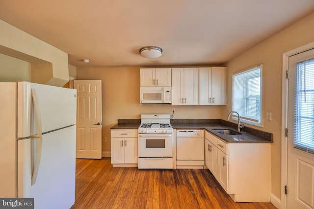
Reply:
M77 99L77 158L102 158L102 81L75 80Z

